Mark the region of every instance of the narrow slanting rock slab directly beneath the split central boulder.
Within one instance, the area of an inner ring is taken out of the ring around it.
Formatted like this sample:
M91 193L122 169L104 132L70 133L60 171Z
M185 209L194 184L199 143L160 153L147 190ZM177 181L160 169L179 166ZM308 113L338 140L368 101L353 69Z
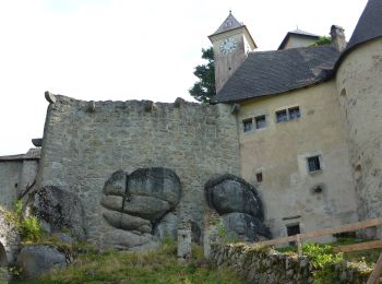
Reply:
M152 224L148 220L114 211L104 212L103 215L105 220L116 228L139 230L141 233L152 232Z

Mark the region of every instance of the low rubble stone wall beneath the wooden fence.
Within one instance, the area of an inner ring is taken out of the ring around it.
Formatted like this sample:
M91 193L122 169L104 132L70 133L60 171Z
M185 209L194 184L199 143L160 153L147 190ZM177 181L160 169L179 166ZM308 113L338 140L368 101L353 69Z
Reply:
M232 268L248 283L313 283L314 267L307 257L278 253L270 248L218 245L211 248L211 260L217 267ZM335 264L338 283L367 283L371 269L366 264Z

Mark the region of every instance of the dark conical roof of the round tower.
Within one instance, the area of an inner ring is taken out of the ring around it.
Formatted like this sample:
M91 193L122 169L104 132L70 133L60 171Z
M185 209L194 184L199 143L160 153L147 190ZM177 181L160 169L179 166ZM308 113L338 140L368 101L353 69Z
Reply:
M382 0L369 0L347 44L346 51L382 36Z

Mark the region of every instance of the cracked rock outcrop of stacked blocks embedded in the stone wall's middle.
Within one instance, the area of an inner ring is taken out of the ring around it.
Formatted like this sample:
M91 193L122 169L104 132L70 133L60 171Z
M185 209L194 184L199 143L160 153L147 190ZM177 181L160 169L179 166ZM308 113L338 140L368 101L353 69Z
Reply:
M157 238L175 237L177 216L171 211L180 198L181 184L171 169L114 173L105 182L100 201L105 221L115 228L105 234L104 242L131 249L148 246Z

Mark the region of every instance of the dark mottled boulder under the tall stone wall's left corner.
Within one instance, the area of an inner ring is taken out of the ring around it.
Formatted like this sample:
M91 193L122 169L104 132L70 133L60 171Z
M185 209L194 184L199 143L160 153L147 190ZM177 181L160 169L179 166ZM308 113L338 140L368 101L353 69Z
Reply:
M79 239L85 239L84 210L76 194L53 186L37 190L36 214L50 224L51 232L70 229Z

